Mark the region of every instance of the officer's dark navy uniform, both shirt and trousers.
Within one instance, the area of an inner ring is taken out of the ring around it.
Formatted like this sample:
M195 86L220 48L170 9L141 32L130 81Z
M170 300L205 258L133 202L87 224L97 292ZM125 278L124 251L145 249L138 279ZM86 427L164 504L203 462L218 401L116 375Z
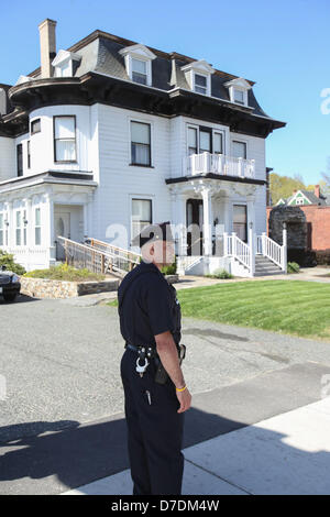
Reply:
M119 292L120 329L127 343L156 349L154 336L170 331L180 340L180 308L176 289L152 263L142 262L122 280ZM125 395L128 446L133 495L177 495L182 491L184 414L175 385L154 380L153 360L141 377L138 353L125 349L121 377Z

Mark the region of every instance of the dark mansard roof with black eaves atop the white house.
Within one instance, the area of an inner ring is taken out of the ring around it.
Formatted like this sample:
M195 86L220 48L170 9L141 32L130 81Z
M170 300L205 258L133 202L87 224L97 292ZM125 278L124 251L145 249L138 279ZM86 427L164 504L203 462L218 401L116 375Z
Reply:
M133 82L125 67L125 51L144 48L146 58L152 59L151 85ZM255 99L253 81L212 67L205 59L195 59L176 52L166 53L146 47L102 31L95 31L84 40L58 51L57 56L74 55L70 77L41 77L41 68L30 73L31 79L9 90L9 99L16 108L6 116L0 131L19 134L26 127L26 116L32 109L53 103L103 102L127 109L142 110L155 114L186 114L201 120L221 122L231 131L266 138L284 122L268 117ZM57 57L56 56L56 57ZM55 63L56 63L55 57ZM194 64L204 64L210 74L210 96L193 91L185 69ZM231 102L228 84L243 81L248 89L248 106ZM19 114L22 113L24 127ZM15 127L14 127L15 125Z

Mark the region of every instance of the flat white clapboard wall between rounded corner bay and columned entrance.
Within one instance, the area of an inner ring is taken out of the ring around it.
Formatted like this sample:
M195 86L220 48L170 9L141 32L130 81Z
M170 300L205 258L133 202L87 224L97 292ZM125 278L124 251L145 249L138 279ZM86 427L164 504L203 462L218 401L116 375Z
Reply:
M131 163L131 119L151 124L152 166ZM153 222L170 220L169 120L98 105L100 186L95 193L94 235L105 240L109 224L124 224L131 239L131 199L153 201ZM111 235L108 234L108 239ZM122 240L116 241L125 248Z

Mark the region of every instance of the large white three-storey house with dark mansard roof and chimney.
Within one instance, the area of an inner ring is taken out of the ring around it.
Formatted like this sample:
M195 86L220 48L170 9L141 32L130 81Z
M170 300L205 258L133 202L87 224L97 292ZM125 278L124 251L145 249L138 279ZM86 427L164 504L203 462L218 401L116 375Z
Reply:
M127 249L143 226L169 220L182 271L254 274L265 139L285 125L254 82L101 31L56 51L55 26L38 26L41 67L0 85L0 246L28 270L48 267L63 260L58 235Z

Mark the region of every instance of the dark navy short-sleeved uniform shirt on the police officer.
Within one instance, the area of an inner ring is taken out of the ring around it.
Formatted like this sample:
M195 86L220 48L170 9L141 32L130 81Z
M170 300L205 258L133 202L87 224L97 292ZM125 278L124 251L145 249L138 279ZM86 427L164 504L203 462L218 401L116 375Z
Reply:
M125 275L118 289L120 330L135 346L155 346L154 336L170 331L180 340L180 308L176 289L157 266L141 262Z

